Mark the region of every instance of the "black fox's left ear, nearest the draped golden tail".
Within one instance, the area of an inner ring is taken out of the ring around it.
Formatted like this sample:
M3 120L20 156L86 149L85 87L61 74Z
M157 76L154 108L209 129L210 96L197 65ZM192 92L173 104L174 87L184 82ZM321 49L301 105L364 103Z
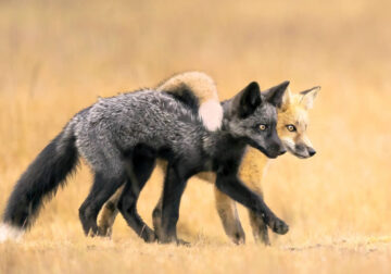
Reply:
M260 86L256 82L252 82L234 98L234 108L240 117L247 117L255 111L261 102Z

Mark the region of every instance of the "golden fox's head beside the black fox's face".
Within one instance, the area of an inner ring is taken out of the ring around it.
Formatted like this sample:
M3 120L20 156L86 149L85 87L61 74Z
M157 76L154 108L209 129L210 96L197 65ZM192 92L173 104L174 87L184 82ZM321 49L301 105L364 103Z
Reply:
M308 110L313 107L320 87L313 87L300 94L292 95L290 89L285 92L282 103L278 108L277 133L285 148L293 155L305 159L313 157L313 148L306 129L308 126Z

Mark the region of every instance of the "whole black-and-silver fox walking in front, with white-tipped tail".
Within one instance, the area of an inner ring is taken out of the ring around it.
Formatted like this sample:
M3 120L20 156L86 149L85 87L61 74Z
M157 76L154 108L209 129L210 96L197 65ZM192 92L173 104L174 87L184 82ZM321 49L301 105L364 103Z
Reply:
M261 215L274 232L286 234L289 226L242 183L238 170L248 145L269 158L286 152L276 130L276 108L288 85L283 82L261 92L256 82L250 83L220 104L220 129L214 132L195 114L199 105L194 111L167 92L142 89L100 98L73 116L16 182L3 213L0 241L22 237L80 158L93 173L92 187L79 208L86 235L100 235L98 213L125 184L117 208L129 227L147 242L180 244L176 234L180 198L187 180L202 171L215 173L220 191ZM167 166L160 227L154 232L136 205L156 159Z

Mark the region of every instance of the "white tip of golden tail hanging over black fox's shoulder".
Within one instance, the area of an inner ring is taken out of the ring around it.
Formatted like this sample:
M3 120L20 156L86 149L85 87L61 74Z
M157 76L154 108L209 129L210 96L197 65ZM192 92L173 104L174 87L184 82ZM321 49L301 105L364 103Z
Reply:
M214 132L222 127L223 107L216 100L207 100L201 103L199 115L207 130Z

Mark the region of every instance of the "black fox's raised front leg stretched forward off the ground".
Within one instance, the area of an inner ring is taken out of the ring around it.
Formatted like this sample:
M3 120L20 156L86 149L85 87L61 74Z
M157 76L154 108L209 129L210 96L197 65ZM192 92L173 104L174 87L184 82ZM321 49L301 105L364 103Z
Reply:
M262 197L250 190L237 177L237 174L230 171L230 167L223 167L217 172L216 187L231 199L254 211L275 233L286 234L289 231L288 225L272 212Z

